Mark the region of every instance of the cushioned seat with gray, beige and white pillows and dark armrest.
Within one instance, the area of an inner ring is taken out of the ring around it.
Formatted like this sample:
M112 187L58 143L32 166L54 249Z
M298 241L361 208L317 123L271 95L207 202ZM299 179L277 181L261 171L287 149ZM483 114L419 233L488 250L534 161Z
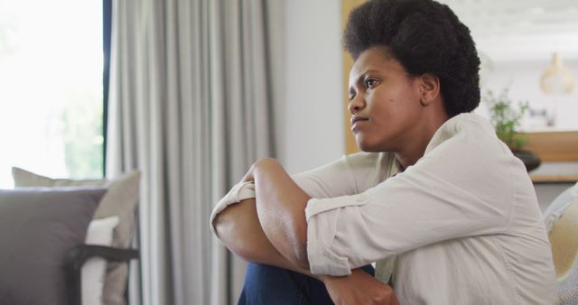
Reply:
M1 304L126 304L140 172L51 179L13 168L0 190Z

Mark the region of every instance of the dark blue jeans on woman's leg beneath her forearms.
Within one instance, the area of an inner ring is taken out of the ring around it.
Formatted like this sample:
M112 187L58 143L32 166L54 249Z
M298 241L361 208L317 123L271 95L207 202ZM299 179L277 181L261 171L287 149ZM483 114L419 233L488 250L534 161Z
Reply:
M363 271L374 275L371 265ZM325 285L312 277L261 263L249 263L238 305L333 305Z

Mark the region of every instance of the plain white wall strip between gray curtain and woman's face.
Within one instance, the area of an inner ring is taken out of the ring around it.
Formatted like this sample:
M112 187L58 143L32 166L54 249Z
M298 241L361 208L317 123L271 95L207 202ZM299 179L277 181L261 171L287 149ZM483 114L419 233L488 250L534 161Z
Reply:
M285 2L285 73L277 157L290 173L340 158L343 135L340 1Z

